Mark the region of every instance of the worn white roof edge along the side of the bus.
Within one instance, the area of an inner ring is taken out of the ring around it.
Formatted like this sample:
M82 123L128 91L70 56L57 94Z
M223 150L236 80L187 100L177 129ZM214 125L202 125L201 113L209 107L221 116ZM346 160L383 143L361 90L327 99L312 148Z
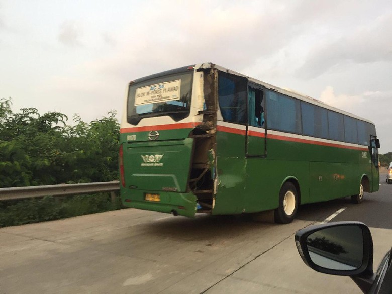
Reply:
M368 123L371 123L371 124L374 125L374 123L372 121L368 120L368 119L365 119L365 118L359 117L357 115L354 115L352 113L346 112L344 110L335 108L335 107L330 106L330 105L328 105L328 104L326 104L326 103L324 103L324 102L322 102L320 100L317 100L317 99L315 99L313 97L310 97L310 96L298 93L298 92L293 91L291 89L283 89L283 88L276 87L274 85L271 85L271 84L268 84L266 82L260 81L258 79L255 79L255 78L243 75L241 73L235 72L233 70L227 69L225 67L216 65L216 64L211 63L211 62L197 64L197 65L194 65L194 67L195 67L195 69L216 68L216 69L218 69L220 71L224 71L224 72L227 72L227 73L230 73L230 74L242 76L242 77L247 78L249 81L251 81L251 82L253 82L255 84L259 84L259 85L261 85L261 86L263 86L263 87L265 87L267 89L272 89L272 90L274 90L276 92L279 92L281 94L288 95L288 96L291 96L293 98L296 98L296 99L299 99L299 100L302 100L302 101L305 101L305 102L308 102L308 103L311 103L311 104L314 104L314 105L318 105L320 107L323 107L323 108L326 108L326 109L329 109L329 110L332 110L332 111L336 111L338 113L341 113L341 114L344 114L344 115L347 115L347 116L350 116L350 117L353 117L353 118L356 118L356 119L359 119L359 120L362 120L362 121L365 121L365 122L368 122Z

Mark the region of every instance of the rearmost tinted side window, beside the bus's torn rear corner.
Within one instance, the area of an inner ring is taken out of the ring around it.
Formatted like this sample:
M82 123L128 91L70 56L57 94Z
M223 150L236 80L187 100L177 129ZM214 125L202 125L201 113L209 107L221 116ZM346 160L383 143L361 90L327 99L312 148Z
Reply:
M245 124L247 81L219 72L218 100L222 117L227 122Z

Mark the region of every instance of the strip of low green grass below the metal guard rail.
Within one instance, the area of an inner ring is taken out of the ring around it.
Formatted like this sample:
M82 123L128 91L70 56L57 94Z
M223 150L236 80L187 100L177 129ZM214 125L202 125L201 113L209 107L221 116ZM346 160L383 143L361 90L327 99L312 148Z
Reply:
M124 208L110 193L0 202L0 227L52 221Z

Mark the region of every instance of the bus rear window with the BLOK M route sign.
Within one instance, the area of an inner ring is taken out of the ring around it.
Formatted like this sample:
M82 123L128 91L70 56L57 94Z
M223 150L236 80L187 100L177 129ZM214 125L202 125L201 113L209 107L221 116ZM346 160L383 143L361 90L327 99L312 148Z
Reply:
M131 83L127 121L137 125L148 117L170 116L180 121L189 116L193 72L177 73Z

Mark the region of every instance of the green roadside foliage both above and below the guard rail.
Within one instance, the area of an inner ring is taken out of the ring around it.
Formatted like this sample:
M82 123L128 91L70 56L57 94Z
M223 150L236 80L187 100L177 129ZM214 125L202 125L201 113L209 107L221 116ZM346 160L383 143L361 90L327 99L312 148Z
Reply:
M0 99L0 188L102 182L118 179L120 125L116 112L86 123L67 124L59 112L11 109ZM120 209L108 193L0 202L0 227Z

